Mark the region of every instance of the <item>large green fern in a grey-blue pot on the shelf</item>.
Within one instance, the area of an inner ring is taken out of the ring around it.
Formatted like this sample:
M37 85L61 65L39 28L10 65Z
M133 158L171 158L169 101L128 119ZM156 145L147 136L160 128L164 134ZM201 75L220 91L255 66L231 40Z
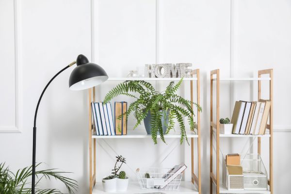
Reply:
M171 81L165 91L157 92L155 88L146 81L124 81L115 86L104 98L104 103L109 102L114 97L126 95L135 98L130 103L126 117L133 113L136 118L136 124L133 129L137 128L144 121L146 131L151 134L154 144L157 144L157 136L160 134L162 141L165 143L164 134L168 134L175 126L177 119L180 128L180 144L186 139L186 129L183 116L187 117L190 130L194 131L196 124L193 120L194 111L192 102L176 94L183 79L175 84ZM139 96L135 96L138 93ZM201 107L193 103L198 111ZM121 116L118 118L121 119ZM189 144L189 143L188 143Z

